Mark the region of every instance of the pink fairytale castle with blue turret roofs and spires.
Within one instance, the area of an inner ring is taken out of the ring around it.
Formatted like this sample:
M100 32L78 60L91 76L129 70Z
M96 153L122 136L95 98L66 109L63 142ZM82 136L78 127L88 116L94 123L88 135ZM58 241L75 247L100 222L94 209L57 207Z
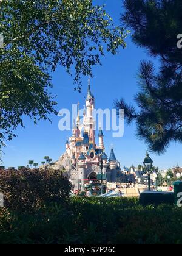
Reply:
M90 90L90 79L86 97L86 109L83 113L83 122L78 116L73 122L72 136L66 141L66 152L55 162L54 168L66 169L74 189L84 190L85 183L96 180L101 172L99 164L103 160L103 173L107 174L107 182L116 182L117 172L120 172L120 163L115 157L113 148L108 158L104 147L104 134L100 128L98 145L95 138L95 97Z

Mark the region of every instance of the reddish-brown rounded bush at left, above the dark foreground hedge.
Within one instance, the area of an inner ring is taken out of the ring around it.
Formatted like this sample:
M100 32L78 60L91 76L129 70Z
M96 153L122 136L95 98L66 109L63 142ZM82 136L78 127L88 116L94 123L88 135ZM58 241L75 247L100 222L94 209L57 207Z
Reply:
M32 211L66 201L71 185L62 172L41 169L0 171L0 192L9 210Z

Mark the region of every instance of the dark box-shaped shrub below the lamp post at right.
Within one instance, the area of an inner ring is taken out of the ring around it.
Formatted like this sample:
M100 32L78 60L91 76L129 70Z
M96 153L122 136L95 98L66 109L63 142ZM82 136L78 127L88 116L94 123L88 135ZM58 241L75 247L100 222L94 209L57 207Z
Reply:
M140 204L174 204L174 193L143 192L140 194Z

